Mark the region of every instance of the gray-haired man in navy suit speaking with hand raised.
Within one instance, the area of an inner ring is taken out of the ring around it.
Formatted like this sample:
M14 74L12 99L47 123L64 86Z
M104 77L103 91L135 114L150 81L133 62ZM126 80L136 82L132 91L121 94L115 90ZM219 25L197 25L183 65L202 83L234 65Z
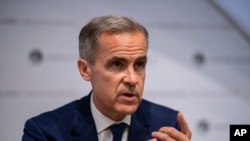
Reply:
M142 99L147 50L148 32L133 19L91 20L79 35L78 69L92 91L29 119L22 140L190 141L181 113ZM125 123L120 139L112 126L118 123Z

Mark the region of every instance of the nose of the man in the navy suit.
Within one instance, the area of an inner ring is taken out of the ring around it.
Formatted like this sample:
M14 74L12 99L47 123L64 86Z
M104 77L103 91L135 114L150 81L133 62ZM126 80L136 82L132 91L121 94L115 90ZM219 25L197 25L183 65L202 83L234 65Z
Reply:
M126 70L123 82L129 86L135 86L138 83L137 73L133 68Z

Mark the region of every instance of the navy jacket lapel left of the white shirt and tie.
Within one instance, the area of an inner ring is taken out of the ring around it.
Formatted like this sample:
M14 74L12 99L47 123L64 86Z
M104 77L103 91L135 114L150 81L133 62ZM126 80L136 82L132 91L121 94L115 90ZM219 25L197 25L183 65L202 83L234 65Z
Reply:
M90 110L90 94L79 101L71 135L73 141L98 141L95 122Z

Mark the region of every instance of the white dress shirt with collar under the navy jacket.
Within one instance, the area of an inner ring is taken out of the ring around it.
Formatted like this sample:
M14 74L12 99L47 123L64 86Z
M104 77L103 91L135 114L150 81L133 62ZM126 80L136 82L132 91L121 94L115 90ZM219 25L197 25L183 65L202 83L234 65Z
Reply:
M124 117L121 121L113 121L112 119L106 117L103 115L95 106L93 101L93 93L91 94L91 100L90 100L90 107L91 112L95 121L97 134L98 134L98 140L99 141L112 141L113 135L111 131L108 129L109 126L113 125L114 123L126 123L128 127L130 126L131 121L131 115L127 115ZM127 141L128 140L128 127L125 128L122 140L121 141Z

